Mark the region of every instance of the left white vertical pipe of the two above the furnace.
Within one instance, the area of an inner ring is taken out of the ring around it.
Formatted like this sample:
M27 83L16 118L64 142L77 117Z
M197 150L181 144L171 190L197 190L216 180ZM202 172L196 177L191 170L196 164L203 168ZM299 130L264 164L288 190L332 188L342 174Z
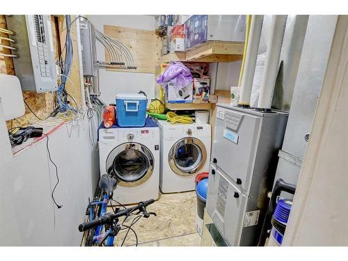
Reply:
M258 58L262 22L263 15L253 15L251 17L248 47L246 49L245 68L238 102L239 106L249 106L251 89L253 88L256 59Z

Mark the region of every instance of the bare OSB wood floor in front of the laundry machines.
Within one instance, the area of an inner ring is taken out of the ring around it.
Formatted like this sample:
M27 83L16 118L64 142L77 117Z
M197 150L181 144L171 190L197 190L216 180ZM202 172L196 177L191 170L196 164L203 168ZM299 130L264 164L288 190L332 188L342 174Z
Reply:
M141 218L132 226L139 246L200 246L200 236L195 228L195 191L161 194L147 209L148 212L156 212L157 216ZM108 210L112 211L111 208ZM132 219L125 225L129 226L131 222ZM118 233L115 246L122 244L126 231ZM134 246L135 243L134 233L129 231L124 246Z

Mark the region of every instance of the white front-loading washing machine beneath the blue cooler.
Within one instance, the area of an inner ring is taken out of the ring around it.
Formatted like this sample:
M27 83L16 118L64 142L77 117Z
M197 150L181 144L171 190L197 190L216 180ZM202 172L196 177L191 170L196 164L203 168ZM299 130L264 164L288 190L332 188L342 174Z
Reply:
M159 197L159 127L146 119L145 127L99 129L100 175L118 180L113 199L121 204Z

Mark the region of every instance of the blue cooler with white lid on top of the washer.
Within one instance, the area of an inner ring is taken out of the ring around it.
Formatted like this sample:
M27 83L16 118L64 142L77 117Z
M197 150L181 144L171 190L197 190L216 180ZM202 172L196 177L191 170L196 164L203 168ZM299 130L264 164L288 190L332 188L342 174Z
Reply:
M116 95L117 122L120 127L143 127L146 118L146 97L139 93Z

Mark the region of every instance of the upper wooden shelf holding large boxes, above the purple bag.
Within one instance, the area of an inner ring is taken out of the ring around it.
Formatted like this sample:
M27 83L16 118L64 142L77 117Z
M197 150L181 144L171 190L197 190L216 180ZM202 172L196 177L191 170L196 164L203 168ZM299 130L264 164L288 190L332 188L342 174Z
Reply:
M170 61L231 62L243 58L244 42L205 42L187 52L175 52L161 56L161 63Z

